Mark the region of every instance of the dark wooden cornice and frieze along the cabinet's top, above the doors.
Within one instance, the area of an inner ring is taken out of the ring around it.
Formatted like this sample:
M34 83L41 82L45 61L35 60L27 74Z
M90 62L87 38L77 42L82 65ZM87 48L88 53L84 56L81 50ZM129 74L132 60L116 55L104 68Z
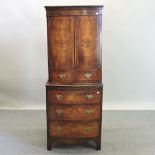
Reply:
M103 5L90 6L45 6L47 16L102 15Z

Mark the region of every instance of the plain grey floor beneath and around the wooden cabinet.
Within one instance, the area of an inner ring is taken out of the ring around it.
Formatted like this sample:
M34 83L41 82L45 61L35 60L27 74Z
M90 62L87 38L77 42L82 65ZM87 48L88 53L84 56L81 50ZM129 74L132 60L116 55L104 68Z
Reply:
M104 111L102 150L92 146L47 151L45 111L0 111L0 155L155 155L155 111Z

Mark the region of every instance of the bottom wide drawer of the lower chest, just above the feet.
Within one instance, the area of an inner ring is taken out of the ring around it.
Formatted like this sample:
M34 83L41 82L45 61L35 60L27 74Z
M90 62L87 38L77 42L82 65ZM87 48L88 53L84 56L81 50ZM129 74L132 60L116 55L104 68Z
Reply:
M52 122L49 125L49 134L52 137L97 137L99 135L99 122Z

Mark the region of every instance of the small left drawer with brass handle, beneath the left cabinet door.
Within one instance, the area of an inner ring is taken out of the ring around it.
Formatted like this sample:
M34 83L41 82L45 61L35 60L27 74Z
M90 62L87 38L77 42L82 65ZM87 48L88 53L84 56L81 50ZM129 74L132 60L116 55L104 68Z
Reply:
M56 84L67 84L75 81L74 71L52 71L50 81Z

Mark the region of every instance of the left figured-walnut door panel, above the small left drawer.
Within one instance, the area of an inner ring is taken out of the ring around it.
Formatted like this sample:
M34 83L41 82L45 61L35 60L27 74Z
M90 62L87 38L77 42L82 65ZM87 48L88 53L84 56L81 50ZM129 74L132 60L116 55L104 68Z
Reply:
M74 68L73 17L50 17L48 23L50 68L55 70Z

